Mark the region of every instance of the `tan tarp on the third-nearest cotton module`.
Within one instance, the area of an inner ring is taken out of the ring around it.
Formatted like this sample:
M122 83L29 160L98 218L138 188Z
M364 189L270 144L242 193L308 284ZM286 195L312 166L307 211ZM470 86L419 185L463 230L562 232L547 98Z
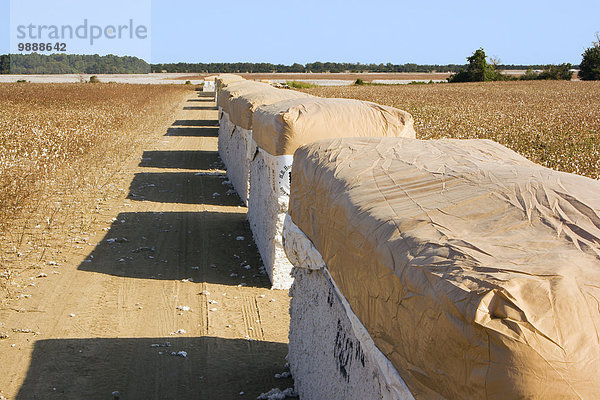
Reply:
M270 85L261 90L244 93L229 100L231 122L244 129L252 129L252 114L257 107L277 103L283 100L305 99L313 97L307 93L288 89L276 89Z

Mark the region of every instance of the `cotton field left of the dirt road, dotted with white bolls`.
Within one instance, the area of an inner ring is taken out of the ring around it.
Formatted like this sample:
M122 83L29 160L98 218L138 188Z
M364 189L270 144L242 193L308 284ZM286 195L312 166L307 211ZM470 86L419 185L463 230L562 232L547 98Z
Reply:
M0 226L7 216L18 216L24 207L50 196L49 184L64 179L63 172L89 174L118 158L132 135L143 134L154 114L186 90L162 85L1 84Z

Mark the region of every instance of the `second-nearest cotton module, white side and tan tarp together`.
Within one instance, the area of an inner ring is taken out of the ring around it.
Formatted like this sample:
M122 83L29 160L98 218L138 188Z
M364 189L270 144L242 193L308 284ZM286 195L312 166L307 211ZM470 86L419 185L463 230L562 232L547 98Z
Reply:
M328 137L414 137L413 119L405 111L374 103L305 97L257 107L252 126L259 151L250 166L248 220L273 286L285 289L293 282L292 266L280 237L296 148Z

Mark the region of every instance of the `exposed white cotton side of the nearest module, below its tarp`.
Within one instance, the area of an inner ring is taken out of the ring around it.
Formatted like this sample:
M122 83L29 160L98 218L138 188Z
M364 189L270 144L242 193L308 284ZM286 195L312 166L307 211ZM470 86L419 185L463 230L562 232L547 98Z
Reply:
M300 398L413 399L337 289L318 251L289 216L284 241L296 267L288 362Z

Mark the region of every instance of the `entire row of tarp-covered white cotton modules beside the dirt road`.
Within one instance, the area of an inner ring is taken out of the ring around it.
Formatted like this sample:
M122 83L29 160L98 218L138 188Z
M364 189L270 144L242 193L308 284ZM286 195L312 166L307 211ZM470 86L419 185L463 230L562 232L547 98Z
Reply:
M598 181L391 107L216 91L301 398L600 398Z

